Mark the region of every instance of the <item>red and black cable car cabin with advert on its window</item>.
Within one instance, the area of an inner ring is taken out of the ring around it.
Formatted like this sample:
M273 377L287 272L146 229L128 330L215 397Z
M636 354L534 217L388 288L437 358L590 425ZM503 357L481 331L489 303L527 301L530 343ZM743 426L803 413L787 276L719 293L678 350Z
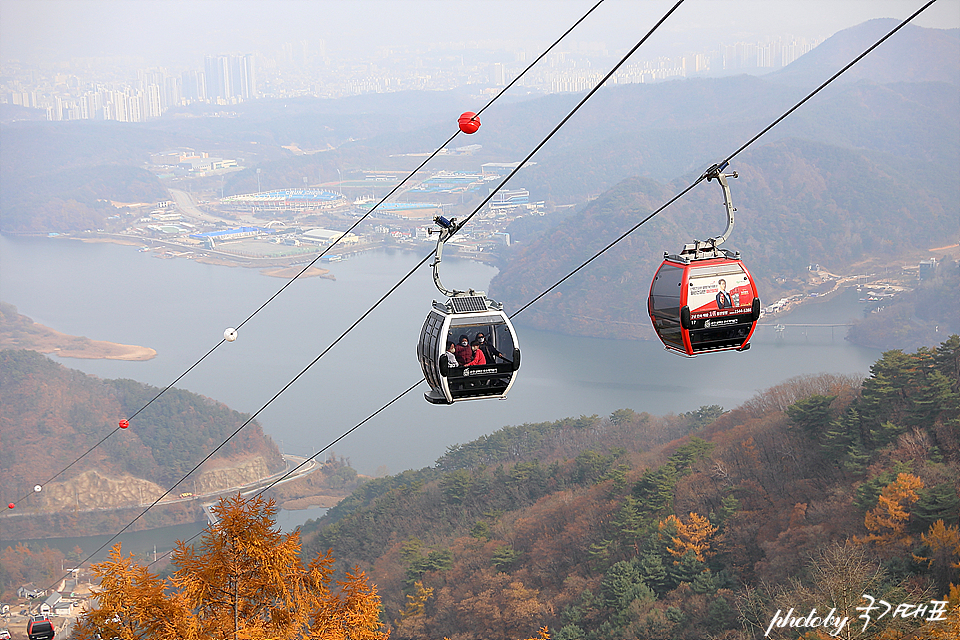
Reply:
M722 251L722 250L721 250ZM687 356L750 348L760 297L739 253L691 260L664 255L650 285L653 328L670 351Z

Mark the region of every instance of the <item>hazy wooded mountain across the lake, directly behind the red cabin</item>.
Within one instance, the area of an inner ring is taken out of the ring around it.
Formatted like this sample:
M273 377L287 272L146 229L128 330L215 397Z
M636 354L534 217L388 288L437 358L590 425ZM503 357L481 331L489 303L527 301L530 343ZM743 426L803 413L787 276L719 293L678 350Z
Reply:
M960 192L952 169L879 152L785 139L745 151L731 168L736 227L727 245L742 251L761 299L799 288L807 266L842 272L955 237ZM909 183L901 179L914 171ZM631 178L509 254L490 286L519 308L689 185ZM685 198L613 247L517 321L576 335L652 337L650 281L664 251L724 229L720 187L702 182ZM945 322L943 319L940 322ZM626 323L626 324L624 324Z

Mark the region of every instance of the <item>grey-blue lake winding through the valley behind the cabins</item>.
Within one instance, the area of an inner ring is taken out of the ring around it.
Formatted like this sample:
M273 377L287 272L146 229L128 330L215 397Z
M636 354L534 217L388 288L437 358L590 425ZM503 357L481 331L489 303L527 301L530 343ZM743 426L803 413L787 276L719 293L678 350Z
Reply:
M431 245L380 250L325 265L336 280L294 282L177 386L253 413L413 267ZM484 288L496 273L446 258L444 284ZM67 239L0 238L0 298L64 333L157 350L146 362L55 358L106 378L166 386L286 280L256 269L161 260L136 247ZM762 292L761 292L762 293ZM421 377L415 344L439 293L429 262L265 409L258 420L286 453L310 456ZM509 312L509 310L508 310ZM862 314L855 292L810 302L784 323L842 323ZM844 327L760 326L744 353L685 359L658 342L573 338L520 325L523 368L503 401L434 406L422 385L337 443L360 473L431 465L449 446L506 425L621 408L680 413L730 409L805 373L867 374L880 353ZM136 424L133 424L136 428ZM206 452L197 451L200 459Z

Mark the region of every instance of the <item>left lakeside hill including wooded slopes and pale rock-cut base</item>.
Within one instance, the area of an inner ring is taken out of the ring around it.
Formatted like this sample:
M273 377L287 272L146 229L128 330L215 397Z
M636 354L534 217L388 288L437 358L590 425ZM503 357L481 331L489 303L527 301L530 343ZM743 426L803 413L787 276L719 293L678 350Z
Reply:
M0 389L0 499L50 522L69 522L61 516L75 508L137 507L158 498L248 419L176 388L147 406L160 391L156 387L100 379L28 350L0 351ZM117 430L120 419L141 408L129 428ZM191 473L187 486L198 492L229 489L238 477L253 482L284 467L277 446L254 421ZM37 484L45 490L34 493ZM198 516L189 514L190 521ZM31 526L21 520L3 519L2 537ZM43 535L21 537L58 535L50 526Z

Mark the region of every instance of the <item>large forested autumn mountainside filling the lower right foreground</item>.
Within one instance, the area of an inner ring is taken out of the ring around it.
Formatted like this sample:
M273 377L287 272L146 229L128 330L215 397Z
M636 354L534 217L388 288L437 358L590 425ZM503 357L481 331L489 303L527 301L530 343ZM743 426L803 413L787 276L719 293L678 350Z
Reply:
M398 639L797 638L768 629L790 607L852 633L864 593L951 599L949 623L875 617L864 637L953 637L958 380L953 336L732 411L507 427L364 485L304 551L368 570Z

